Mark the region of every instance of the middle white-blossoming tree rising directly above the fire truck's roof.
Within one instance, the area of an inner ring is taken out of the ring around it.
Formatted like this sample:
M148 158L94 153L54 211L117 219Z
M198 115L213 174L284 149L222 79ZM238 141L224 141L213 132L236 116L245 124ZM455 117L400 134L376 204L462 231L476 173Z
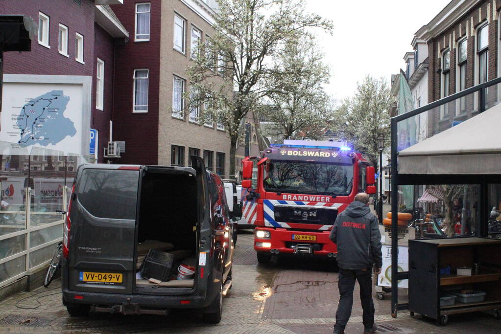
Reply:
M288 40L273 57L262 114L271 122L270 129L284 138L318 139L333 118L333 103L323 87L329 82L329 67L317 45L305 32Z

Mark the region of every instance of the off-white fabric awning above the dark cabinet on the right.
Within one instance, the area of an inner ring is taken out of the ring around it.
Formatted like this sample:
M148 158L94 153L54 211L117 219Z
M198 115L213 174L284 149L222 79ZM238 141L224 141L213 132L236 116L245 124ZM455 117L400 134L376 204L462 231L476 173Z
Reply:
M501 174L501 103L398 154L399 174Z

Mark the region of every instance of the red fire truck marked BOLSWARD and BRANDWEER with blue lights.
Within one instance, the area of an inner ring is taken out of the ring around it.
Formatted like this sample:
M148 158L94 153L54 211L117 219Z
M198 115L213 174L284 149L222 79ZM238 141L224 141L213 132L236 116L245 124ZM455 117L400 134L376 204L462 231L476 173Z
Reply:
M374 167L335 141L284 140L242 160L243 217L255 228L258 261L272 255L335 258L329 239L338 212L360 191L375 193Z

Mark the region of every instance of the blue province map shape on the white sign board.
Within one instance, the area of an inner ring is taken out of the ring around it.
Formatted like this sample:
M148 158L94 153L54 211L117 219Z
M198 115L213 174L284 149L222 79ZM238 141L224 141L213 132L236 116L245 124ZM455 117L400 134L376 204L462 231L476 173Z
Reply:
M77 133L73 121L64 116L70 96L63 90L52 90L35 98L27 99L17 117L21 146L35 143L42 146L56 144L66 136Z

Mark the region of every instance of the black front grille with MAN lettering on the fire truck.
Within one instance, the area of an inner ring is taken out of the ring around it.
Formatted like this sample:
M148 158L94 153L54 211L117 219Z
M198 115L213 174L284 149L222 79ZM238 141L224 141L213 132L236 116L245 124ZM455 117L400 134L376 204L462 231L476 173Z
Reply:
M300 224L332 225L338 210L322 206L278 206L274 207L275 220Z

